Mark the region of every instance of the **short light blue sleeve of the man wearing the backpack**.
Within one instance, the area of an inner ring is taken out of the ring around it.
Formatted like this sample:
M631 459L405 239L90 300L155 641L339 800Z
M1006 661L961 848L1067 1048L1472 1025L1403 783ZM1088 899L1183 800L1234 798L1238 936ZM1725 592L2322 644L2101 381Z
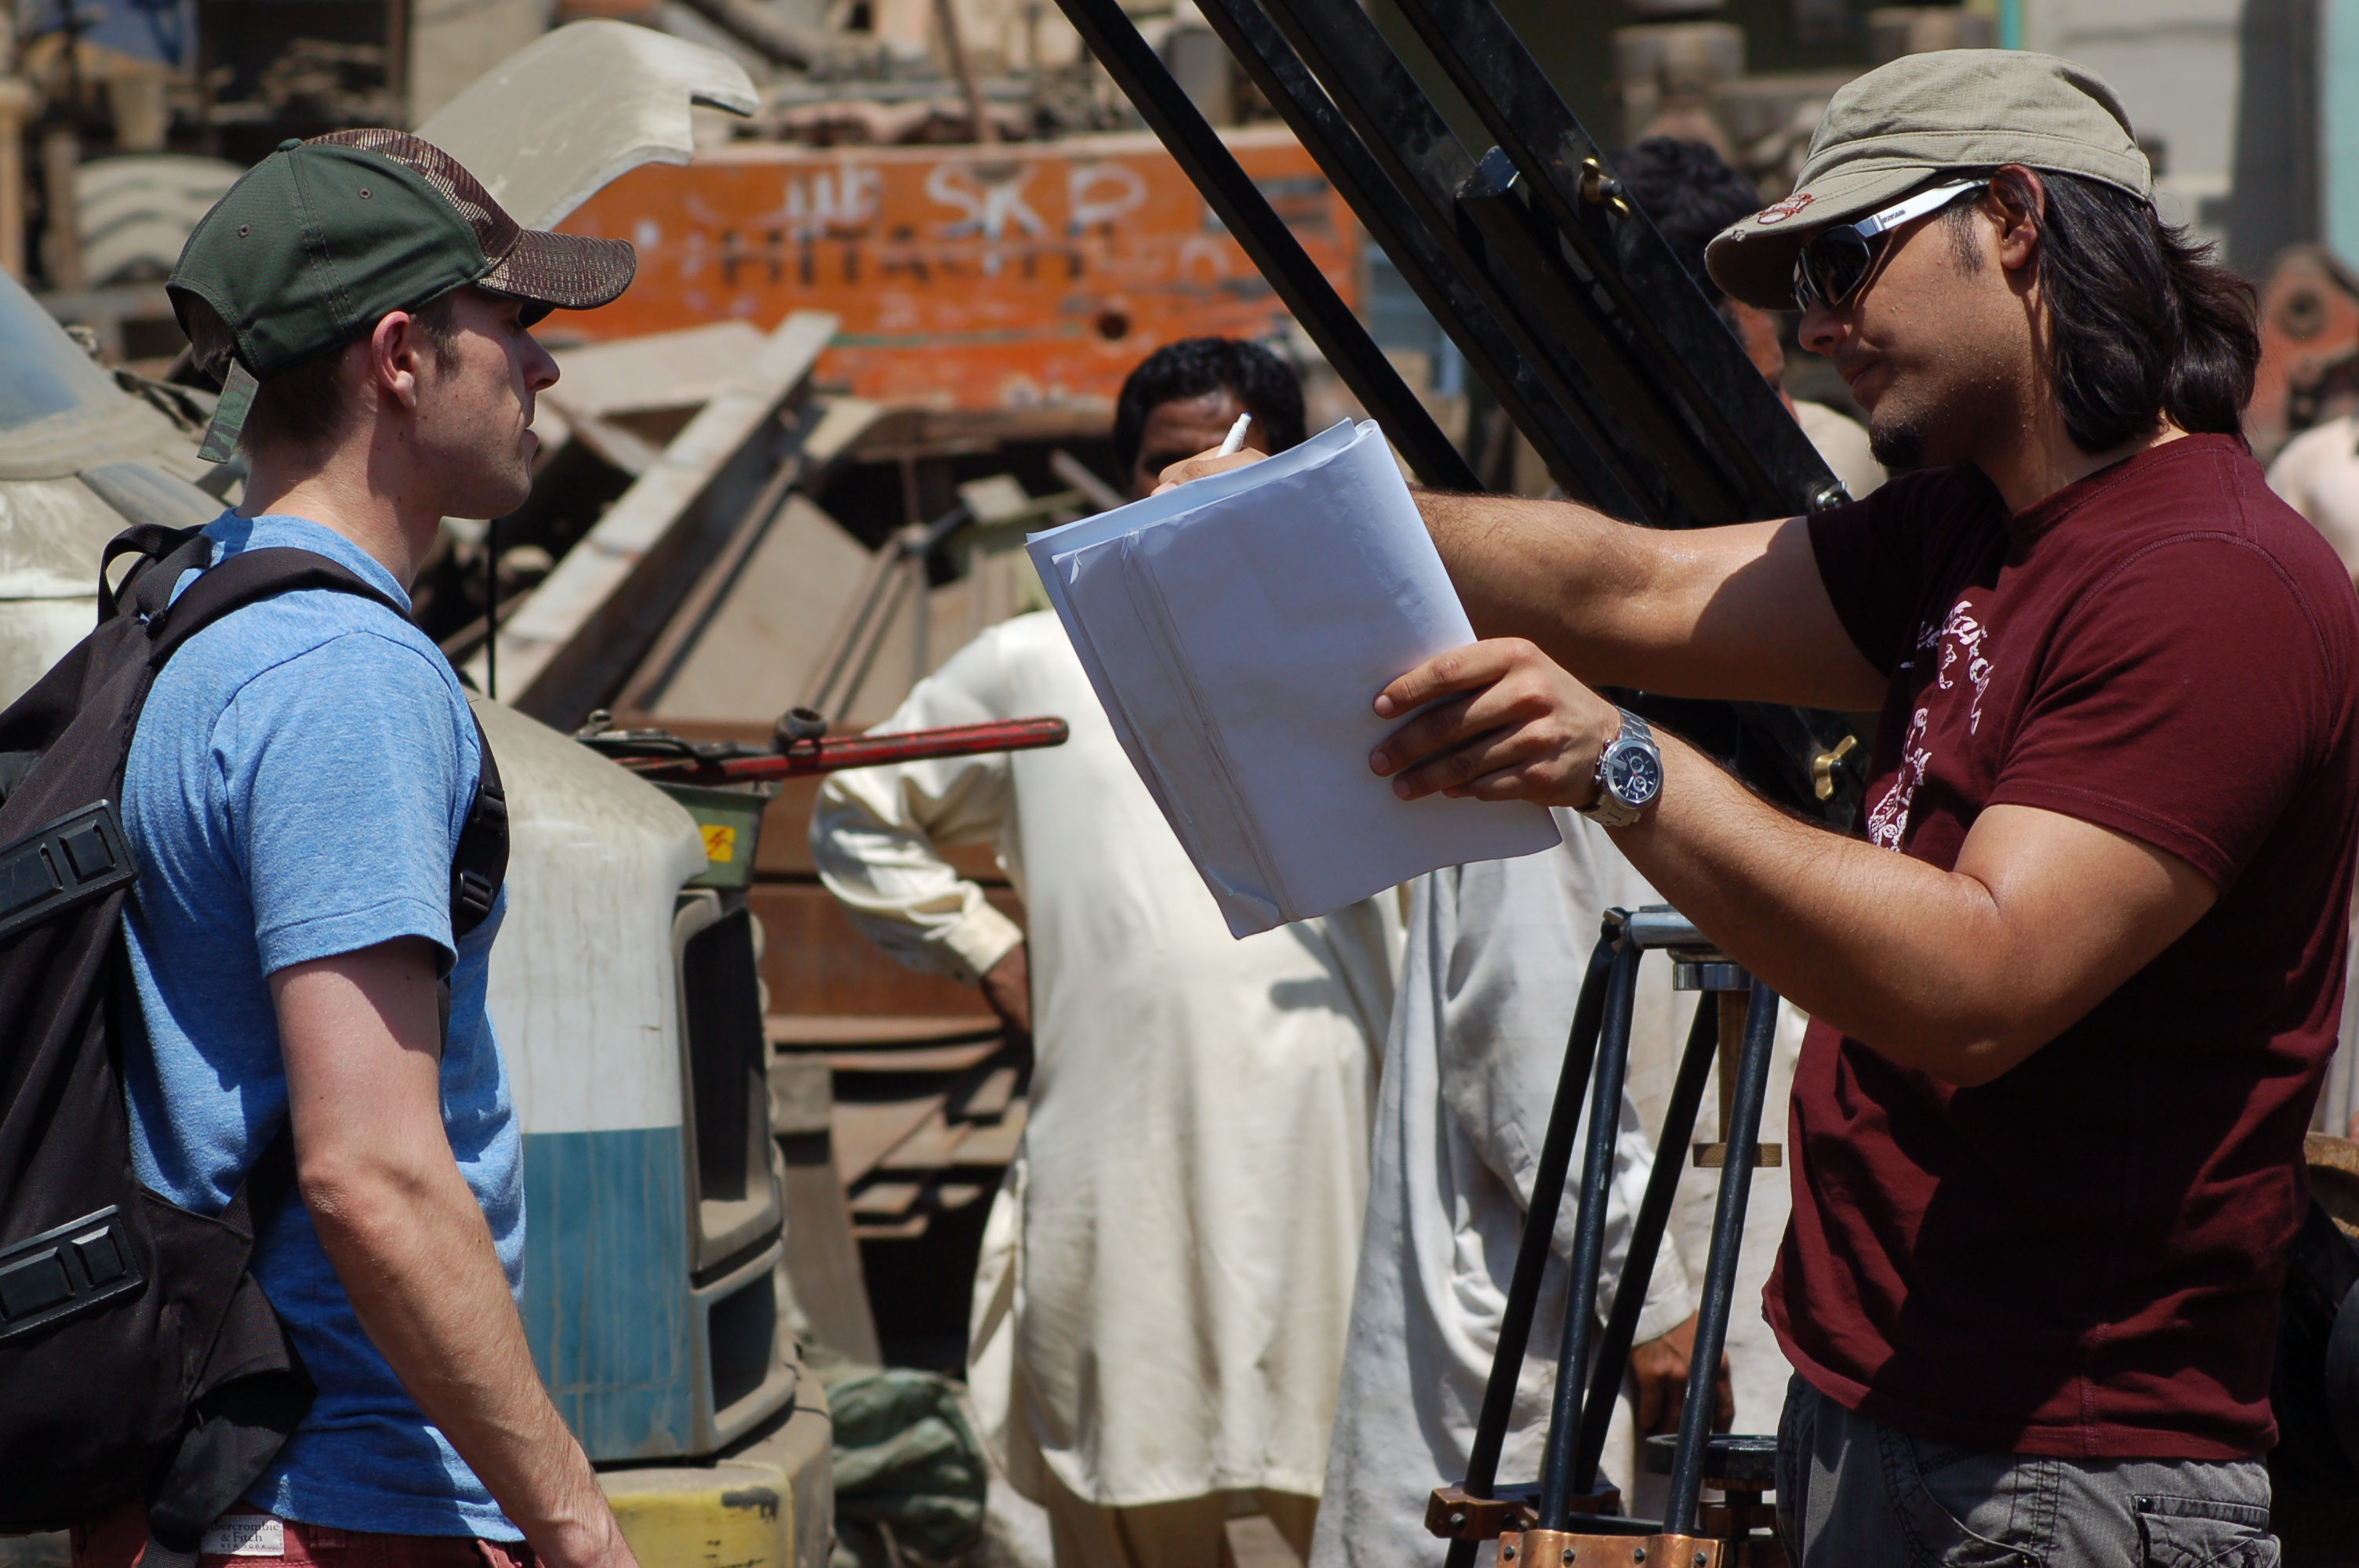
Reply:
M351 632L264 670L222 710L212 766L264 974L396 936L451 967L451 851L479 757L415 648Z

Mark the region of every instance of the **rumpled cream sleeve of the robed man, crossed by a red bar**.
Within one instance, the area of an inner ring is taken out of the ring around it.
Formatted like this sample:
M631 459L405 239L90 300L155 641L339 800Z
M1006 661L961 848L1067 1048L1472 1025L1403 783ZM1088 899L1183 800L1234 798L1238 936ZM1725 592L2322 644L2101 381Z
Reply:
M1000 639L979 637L870 733L1005 719L993 700L998 660ZM811 858L870 941L911 969L974 981L1024 931L939 846L998 837L1010 806L1005 752L833 773L811 811Z

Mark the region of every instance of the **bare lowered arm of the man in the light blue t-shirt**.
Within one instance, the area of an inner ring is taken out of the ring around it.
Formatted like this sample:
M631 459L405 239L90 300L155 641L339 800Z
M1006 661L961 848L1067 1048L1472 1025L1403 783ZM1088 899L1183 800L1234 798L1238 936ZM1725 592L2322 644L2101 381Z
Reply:
M533 1551L637 1568L451 1155L434 960L403 936L271 974L295 1181L361 1327Z

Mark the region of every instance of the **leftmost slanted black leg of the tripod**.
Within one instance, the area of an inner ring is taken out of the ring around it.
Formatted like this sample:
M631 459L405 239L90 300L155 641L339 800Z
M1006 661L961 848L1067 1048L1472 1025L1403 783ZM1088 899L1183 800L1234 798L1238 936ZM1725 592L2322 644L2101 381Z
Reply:
M1498 1351L1491 1356L1491 1382L1484 1384L1481 1412L1474 1417L1474 1443L1467 1448L1465 1490L1489 1497L1498 1485L1498 1455L1514 1417L1514 1389L1524 1375L1524 1349L1531 1344L1531 1318L1540 1306L1540 1278L1557 1238L1557 1207L1564 1203L1564 1172L1573 1165L1573 1134L1581 1129L1581 1099L1597 1056L1597 1030L1606 1012L1606 981L1623 941L1623 913L1606 910L1604 931L1590 950L1581 976L1581 1000L1573 1004L1573 1028L1564 1037L1564 1068L1557 1073L1557 1101L1548 1111L1540 1137L1540 1162L1531 1172L1531 1207L1524 1212L1524 1236L1514 1250L1514 1273L1507 1276L1507 1306L1498 1316ZM1474 1563L1474 1540L1453 1540L1448 1568Z

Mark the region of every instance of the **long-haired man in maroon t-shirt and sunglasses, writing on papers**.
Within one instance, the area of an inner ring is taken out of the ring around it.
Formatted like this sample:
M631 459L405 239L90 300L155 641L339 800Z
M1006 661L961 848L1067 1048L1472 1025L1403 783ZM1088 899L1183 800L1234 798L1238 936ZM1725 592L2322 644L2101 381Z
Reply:
M1979 50L1838 92L1710 266L1802 304L1916 472L1703 533L1422 498L1496 641L1387 686L1387 717L1451 700L1371 766L1588 809L1812 1014L1767 1290L1800 1566L2274 1563L2258 1455L2342 995L2359 601L2239 434L2250 295L2156 219L2104 83ZM1859 832L1566 670L1880 707Z

